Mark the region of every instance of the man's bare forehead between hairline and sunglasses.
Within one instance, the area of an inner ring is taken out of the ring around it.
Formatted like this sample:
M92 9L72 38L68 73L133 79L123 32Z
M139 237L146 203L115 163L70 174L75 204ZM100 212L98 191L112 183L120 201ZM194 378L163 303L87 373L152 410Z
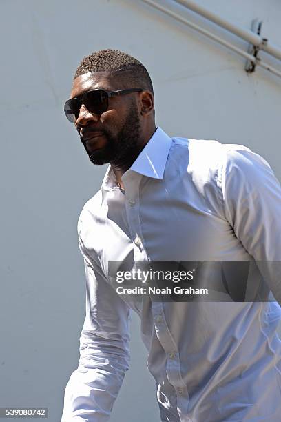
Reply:
M87 72L74 79L70 98L77 97L83 92L96 90L98 88L112 91L116 89L114 85L108 72Z

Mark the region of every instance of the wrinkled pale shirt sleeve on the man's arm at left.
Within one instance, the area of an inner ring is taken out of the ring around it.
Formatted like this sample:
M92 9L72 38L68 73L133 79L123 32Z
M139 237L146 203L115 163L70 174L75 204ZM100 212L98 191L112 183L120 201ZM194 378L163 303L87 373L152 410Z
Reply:
M79 236L86 276L86 316L79 365L65 387L61 422L104 422L129 368L129 307L90 259Z

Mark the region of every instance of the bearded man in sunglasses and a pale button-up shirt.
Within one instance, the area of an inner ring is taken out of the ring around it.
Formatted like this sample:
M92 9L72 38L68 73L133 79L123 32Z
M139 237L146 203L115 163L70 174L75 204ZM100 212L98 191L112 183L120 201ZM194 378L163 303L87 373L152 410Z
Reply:
M83 59L65 114L90 161L110 166L79 217L86 317L62 421L110 418L129 366L131 310L141 318L161 421L280 421L280 308L264 297L271 291L281 303L281 188L267 162L242 145L156 128L149 74L118 50ZM201 275L207 269L203 281L219 284L215 301L118 294L112 261L193 261ZM231 261L237 271L225 272ZM237 261L256 265L242 299Z

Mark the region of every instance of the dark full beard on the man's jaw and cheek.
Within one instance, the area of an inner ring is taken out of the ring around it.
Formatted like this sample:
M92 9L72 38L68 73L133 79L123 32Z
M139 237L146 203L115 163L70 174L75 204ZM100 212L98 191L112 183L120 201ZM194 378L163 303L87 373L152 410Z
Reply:
M105 146L94 152L88 152L83 144L91 163L95 165L111 163L116 168L129 168L143 149L140 148L141 123L136 104L131 103L123 127L118 134L112 134L110 130L103 129L103 136L107 140Z

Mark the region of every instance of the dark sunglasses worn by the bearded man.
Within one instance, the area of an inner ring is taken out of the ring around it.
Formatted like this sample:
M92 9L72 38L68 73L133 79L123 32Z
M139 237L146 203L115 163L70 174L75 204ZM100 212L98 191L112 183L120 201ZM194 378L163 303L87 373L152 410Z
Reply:
M88 112L102 114L108 108L108 99L115 95L125 95L129 92L141 92L141 88L130 88L128 90L118 90L107 92L105 90L90 90L83 92L79 97L73 97L66 101L64 106L65 116L71 123L75 123L79 117L82 104Z

